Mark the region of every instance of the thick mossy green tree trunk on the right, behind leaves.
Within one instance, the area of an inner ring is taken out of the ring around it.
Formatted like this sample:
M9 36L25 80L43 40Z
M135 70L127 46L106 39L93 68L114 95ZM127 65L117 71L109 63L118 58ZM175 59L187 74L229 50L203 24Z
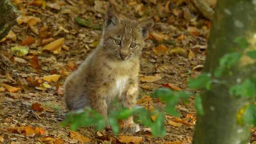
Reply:
M251 47L256 47L256 0L218 0L204 72L214 75L224 54L243 51L234 42L241 36L249 40ZM238 99L229 94L234 81L256 72L255 62L249 63L243 57L241 61L231 70L232 76L220 78L228 84L201 91L204 115L198 115L192 144L248 144L250 126L238 124L237 114L254 99Z

